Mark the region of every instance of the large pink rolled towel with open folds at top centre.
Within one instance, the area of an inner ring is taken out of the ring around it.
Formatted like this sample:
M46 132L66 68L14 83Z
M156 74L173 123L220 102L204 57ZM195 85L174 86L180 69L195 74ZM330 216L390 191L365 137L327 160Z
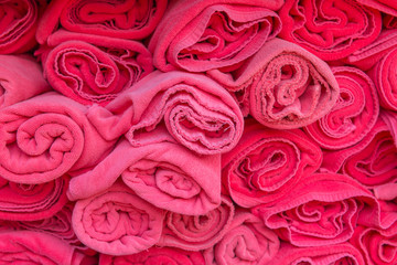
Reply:
M149 43L154 65L164 72L205 72L240 63L280 32L280 19L271 10L282 3L283 0L174 1Z

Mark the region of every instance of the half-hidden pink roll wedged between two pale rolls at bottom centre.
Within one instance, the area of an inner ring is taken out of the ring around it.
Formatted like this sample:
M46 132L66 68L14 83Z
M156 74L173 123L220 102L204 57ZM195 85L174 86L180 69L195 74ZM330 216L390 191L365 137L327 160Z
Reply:
M234 218L234 205L223 195L221 205L206 214L185 215L168 212L158 246L202 251L222 240Z

